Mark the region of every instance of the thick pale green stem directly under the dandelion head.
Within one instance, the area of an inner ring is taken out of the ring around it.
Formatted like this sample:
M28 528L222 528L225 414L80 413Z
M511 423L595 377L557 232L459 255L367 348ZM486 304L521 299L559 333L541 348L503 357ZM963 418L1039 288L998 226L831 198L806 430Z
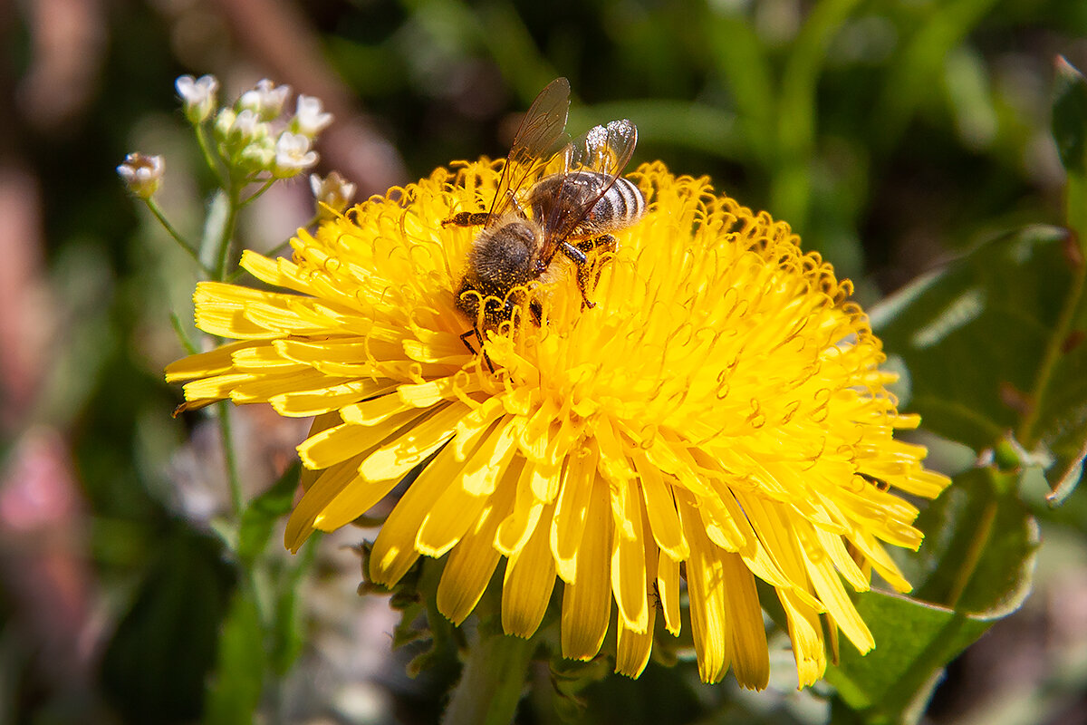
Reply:
M480 634L468 648L442 725L509 725L517 712L536 642Z

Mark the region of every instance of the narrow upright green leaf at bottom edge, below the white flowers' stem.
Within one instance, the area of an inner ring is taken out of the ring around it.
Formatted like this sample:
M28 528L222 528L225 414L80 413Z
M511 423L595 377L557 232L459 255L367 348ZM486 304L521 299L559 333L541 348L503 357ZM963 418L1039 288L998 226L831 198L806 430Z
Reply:
M257 602L238 590L223 623L203 722L208 725L252 722L264 686L265 662Z

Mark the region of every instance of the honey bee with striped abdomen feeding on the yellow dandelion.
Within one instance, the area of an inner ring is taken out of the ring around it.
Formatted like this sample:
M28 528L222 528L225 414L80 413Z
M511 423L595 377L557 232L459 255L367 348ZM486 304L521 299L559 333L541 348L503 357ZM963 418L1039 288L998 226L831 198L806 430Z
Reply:
M646 199L620 176L638 140L629 121L596 126L560 146L570 109L570 83L557 78L533 101L513 138L510 155L489 212L461 212L442 226L478 226L468 252L467 272L457 292L457 308L479 328L512 321L530 284L558 264L561 253L577 267L582 307L594 308L586 289L588 254L615 251L612 232L635 224ZM530 301L537 325L542 310ZM474 350L473 350L474 351ZM489 362L489 361L488 361Z

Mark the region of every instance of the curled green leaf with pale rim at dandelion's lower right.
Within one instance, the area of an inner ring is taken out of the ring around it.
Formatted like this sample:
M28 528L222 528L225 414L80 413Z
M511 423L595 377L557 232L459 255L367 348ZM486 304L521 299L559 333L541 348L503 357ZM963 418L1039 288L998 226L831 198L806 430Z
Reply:
M925 542L902 567L915 599L858 597L876 648L862 657L845 647L828 670L841 700L835 722L915 722L944 666L1023 603L1039 541L1017 485L1013 474L970 471L919 516Z

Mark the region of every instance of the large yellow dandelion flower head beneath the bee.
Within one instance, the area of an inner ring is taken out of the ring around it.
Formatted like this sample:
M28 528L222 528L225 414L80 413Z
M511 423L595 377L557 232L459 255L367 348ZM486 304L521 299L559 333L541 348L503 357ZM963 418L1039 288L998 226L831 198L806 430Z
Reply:
M757 578L788 617L801 686L839 629L872 649L846 585L867 589L875 570L909 589L885 545L922 535L897 492L930 498L948 480L892 437L919 420L897 412L850 283L788 225L650 164L632 175L644 220L597 260L597 307L583 311L573 275L558 275L529 290L542 325L480 335L485 358L454 304L476 230L441 221L487 208L500 167L392 189L300 233L292 260L245 253L290 292L198 286L198 326L238 341L167 368L189 380L188 405L315 416L287 546L425 464L370 576L392 586L420 555L448 555L437 602L454 623L504 558L508 634L532 636L561 580L563 655L597 655L614 602L615 668L634 677L659 615L678 635L684 586L705 682L732 666L744 687L766 685Z

